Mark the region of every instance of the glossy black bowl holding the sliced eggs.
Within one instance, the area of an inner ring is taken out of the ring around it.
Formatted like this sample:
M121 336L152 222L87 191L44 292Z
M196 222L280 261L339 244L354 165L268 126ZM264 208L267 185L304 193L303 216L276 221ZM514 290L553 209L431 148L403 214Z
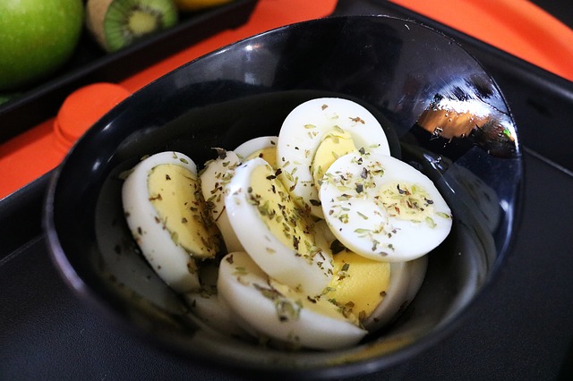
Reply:
M420 292L394 324L345 350L280 351L196 328L135 250L120 174L164 150L201 164L213 147L277 134L292 108L325 96L377 115L393 154L428 174L452 208L452 232L429 254ZM521 176L508 106L454 41L413 21L330 18L247 38L127 98L56 169L44 224L73 289L167 351L259 375L357 376L396 365L463 324L508 254Z

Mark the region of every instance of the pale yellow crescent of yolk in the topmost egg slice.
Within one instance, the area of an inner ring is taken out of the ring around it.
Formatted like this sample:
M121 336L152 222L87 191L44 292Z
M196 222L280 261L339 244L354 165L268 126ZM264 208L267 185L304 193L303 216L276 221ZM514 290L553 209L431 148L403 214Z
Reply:
M340 128L335 128L324 135L312 159L311 173L314 185L320 188L322 177L330 165L332 165L338 157L355 150L356 147L352 136Z

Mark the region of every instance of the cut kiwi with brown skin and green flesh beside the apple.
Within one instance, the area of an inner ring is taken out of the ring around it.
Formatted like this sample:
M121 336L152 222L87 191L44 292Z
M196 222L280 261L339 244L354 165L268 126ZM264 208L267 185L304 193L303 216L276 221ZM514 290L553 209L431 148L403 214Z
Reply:
M88 0L86 26L98 44L115 52L177 23L173 0Z

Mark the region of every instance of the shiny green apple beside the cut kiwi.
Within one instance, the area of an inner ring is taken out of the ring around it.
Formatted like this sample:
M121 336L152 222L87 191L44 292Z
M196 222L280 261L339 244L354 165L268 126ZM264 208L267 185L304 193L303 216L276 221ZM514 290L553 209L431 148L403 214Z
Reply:
M82 27L82 0L0 0L0 91L55 72L73 54Z

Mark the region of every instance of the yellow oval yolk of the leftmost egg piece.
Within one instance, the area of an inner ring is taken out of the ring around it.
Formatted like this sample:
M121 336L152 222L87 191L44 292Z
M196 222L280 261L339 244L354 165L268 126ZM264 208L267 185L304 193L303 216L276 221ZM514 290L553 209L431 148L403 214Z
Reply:
M158 211L158 224L192 257L217 253L218 231L208 216L196 175L181 165L157 165L148 177L150 202Z

